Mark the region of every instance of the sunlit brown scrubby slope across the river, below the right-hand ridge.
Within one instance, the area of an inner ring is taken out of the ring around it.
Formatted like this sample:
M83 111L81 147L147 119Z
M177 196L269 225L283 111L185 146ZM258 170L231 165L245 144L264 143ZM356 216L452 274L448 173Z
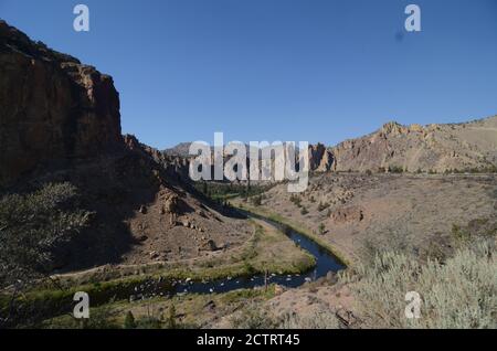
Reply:
M496 223L497 177L326 173L313 177L302 194L274 187L257 210L299 223L351 262L368 241L385 248L404 240L419 249L443 249L454 226Z

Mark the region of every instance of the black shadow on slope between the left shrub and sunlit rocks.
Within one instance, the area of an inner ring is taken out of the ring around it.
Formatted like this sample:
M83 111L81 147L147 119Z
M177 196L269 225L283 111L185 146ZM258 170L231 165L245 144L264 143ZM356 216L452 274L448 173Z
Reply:
M59 252L57 273L119 264L123 255L140 244L126 221L160 190L152 163L139 153L124 151L80 162L53 173L51 182L71 182L82 195L81 205L94 213L91 225ZM193 211L193 209L182 209Z

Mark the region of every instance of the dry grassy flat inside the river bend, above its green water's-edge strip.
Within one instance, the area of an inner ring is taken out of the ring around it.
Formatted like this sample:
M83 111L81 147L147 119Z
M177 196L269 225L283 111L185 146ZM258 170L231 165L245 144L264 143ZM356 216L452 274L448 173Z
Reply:
M250 220L252 237L241 247L212 253L210 257L145 265L104 266L85 272L54 275L63 286L126 280L134 276L171 280L215 280L255 274L302 274L314 267L314 257L297 247L287 235L260 220Z

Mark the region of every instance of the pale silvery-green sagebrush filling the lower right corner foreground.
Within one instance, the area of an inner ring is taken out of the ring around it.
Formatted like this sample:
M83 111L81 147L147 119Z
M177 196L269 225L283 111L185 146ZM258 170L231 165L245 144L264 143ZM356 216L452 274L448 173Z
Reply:
M368 327L496 328L496 272L495 246L488 243L459 249L444 265L437 260L421 265L388 252L372 265L359 265L351 286ZM348 280L347 274L342 279ZM405 318L408 291L422 298L420 319Z

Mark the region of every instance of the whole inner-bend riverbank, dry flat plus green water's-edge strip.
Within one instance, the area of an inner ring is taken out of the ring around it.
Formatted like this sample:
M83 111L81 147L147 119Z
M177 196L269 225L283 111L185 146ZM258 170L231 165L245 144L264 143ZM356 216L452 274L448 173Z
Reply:
M251 221L254 225L254 235L237 249L182 265L173 263L152 267L128 267L129 272L126 274L129 273L130 276L124 277L117 277L125 274L119 272L118 267L54 276L52 278L57 281L56 286L53 283L39 285L19 296L15 304L21 315L30 316L36 311L40 316L51 317L67 313L76 291L87 292L92 306L98 307L116 300L129 301L175 295L178 286L188 289L194 281L202 285L204 281L228 277L234 281L234 278L261 276L266 272L277 275L299 275L315 266L314 256L299 248L284 233L263 221ZM121 269L124 270L124 267ZM8 313L10 300L10 295L0 295L2 313Z

